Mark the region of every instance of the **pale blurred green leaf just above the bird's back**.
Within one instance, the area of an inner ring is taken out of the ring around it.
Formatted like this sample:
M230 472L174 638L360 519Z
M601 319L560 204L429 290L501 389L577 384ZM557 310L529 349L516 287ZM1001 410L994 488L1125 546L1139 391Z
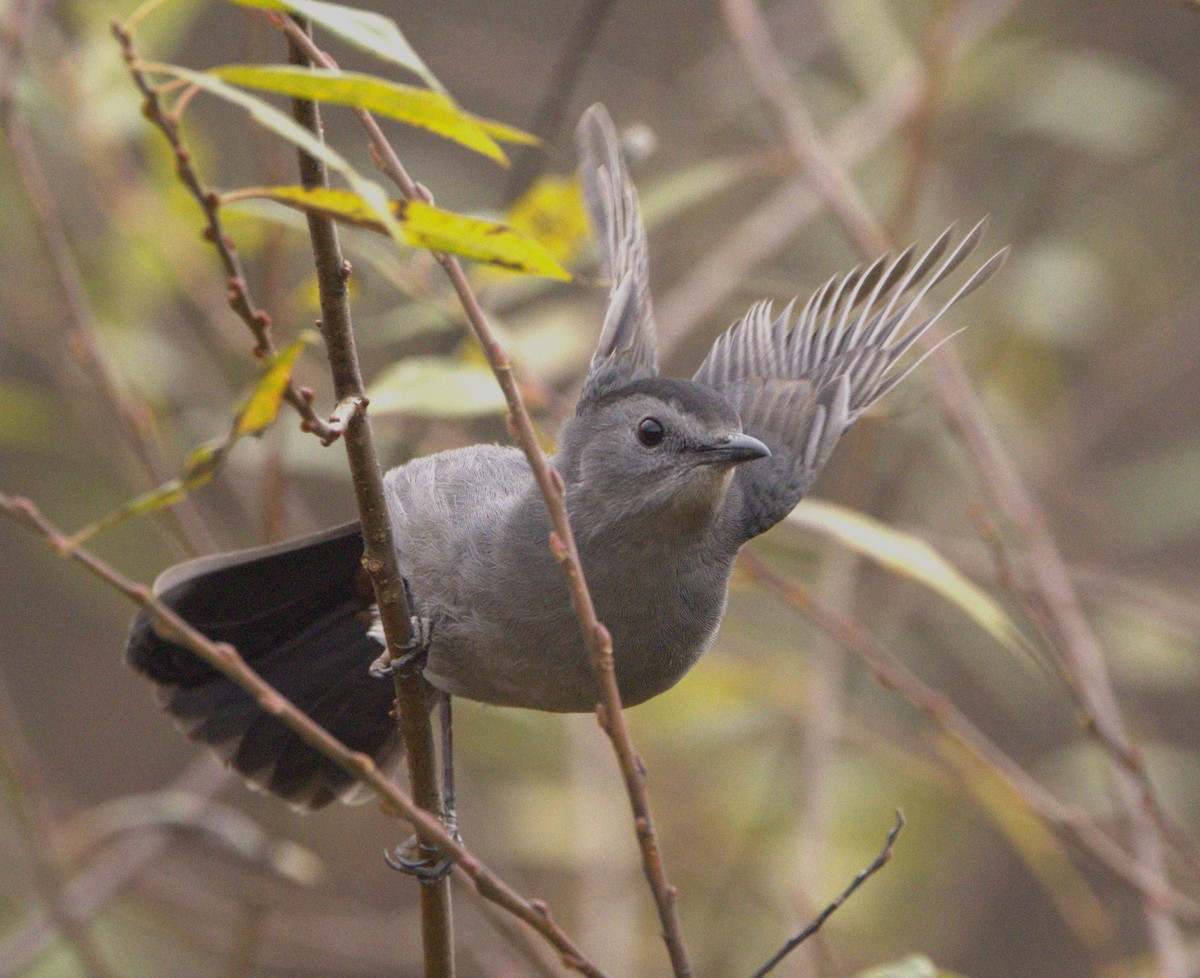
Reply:
M409 356L394 364L367 397L373 416L475 418L508 409L491 370L445 356Z

